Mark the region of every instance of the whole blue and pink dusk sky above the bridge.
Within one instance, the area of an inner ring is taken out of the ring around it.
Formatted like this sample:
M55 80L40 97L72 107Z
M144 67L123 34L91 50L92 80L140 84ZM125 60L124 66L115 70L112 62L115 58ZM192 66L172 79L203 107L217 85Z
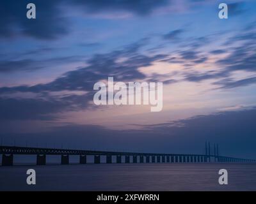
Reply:
M255 13L253 0L1 0L1 143L203 154L209 141L256 158ZM94 105L108 77L163 82L163 110Z

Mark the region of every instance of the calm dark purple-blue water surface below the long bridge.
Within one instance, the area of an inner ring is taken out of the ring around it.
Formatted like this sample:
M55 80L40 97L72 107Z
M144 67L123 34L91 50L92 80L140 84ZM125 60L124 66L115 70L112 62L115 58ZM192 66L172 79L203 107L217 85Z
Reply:
M36 170L36 185L26 171ZM228 185L218 171L228 170ZM256 164L0 166L0 191L255 191Z

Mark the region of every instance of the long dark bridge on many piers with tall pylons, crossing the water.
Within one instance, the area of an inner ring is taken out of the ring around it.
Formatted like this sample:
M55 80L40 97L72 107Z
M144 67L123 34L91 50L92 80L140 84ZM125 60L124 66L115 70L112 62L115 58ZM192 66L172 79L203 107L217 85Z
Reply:
M15 147L0 146L2 154L2 166L13 165L13 155L36 155L36 164L45 165L47 155L60 155L61 164L69 163L69 156L79 156L79 163L86 164L86 156L93 156L94 163L102 163L102 157L106 157L106 163L254 163L255 159L242 159L236 157L220 156L218 149L214 145L214 154L210 152L210 145L207 151L205 145L205 154L163 154L163 153L140 153L140 152L112 152L97 150L76 150L76 149L50 149L38 147ZM114 161L115 158L115 161Z

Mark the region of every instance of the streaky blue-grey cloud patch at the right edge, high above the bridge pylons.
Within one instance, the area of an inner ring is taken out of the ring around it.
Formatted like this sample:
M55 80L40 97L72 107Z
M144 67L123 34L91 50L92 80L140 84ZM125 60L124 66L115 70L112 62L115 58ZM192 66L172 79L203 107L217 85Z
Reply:
M220 89L232 89L240 86L246 86L255 84L255 78L253 72L256 71L256 49L255 49L255 32L253 26L255 22L245 26L239 33L235 33L233 37L227 40L225 45L232 45L225 50L213 50L211 54L221 54L222 52L227 54L222 59L216 61L216 66L220 67L223 73L228 73L226 77L229 77L234 71L244 71L250 73L250 77L232 80L232 78L226 78L214 82L215 85L220 85Z

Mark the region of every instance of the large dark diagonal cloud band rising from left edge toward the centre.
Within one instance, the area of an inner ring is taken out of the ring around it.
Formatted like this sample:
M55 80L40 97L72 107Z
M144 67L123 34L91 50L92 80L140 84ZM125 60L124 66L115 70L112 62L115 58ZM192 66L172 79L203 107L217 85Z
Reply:
M144 45L145 40L141 40L120 50L93 55L86 61L86 67L68 71L47 84L1 87L1 94L8 94L9 97L0 99L0 104L2 103L1 106L4 107L1 119L54 119L57 113L83 110L89 106L93 108L94 106L90 102L92 102L95 93L93 85L96 82L108 80L109 76L122 82L145 80L146 76L138 71L138 68L150 66L153 62L166 57L166 55L161 54L151 56L140 54L138 51ZM120 59L122 60L120 61ZM69 58L52 59L51 61L59 63L60 61L67 62L67 60ZM19 63L15 64L17 68L12 66L12 70L19 69L18 65ZM28 65L22 66L22 69L24 68L28 69ZM10 66L8 71L11 71ZM51 92L61 91L85 91L86 94L81 96L76 94L51 96ZM32 92L39 96L30 99L17 99L18 92Z

